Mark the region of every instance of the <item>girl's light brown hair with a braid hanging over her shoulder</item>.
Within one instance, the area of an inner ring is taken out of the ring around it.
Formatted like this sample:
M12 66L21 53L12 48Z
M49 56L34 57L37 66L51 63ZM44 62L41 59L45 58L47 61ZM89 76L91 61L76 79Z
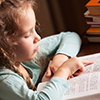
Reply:
M28 7L35 9L35 0L1 0L0 1L0 64L11 69L25 80L30 89L35 89L30 77L25 77L15 66L15 47L10 39L17 35L21 27L18 17Z

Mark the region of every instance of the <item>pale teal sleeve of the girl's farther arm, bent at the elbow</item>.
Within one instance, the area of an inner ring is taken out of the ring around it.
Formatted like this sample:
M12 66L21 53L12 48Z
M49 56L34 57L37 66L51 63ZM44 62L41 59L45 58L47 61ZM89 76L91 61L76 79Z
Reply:
M60 34L43 38L39 41L39 51L45 56L52 56L58 53L67 56L76 56L80 50L81 39L75 32L61 32Z

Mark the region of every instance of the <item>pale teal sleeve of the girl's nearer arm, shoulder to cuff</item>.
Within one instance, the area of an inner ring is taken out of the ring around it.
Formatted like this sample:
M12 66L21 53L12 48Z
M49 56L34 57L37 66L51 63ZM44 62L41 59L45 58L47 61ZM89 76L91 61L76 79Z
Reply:
M4 75L5 76L5 75ZM1 100L62 100L69 83L59 77L53 77L46 87L40 91L29 89L22 78L9 75L0 82ZM6 95L6 96L5 96Z

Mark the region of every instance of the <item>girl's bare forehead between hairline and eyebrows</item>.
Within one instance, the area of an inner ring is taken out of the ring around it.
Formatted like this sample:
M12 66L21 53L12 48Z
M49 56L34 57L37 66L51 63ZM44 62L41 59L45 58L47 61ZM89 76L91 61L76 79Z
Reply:
M19 16L20 31L27 32L35 27L36 18L32 8L29 8Z

